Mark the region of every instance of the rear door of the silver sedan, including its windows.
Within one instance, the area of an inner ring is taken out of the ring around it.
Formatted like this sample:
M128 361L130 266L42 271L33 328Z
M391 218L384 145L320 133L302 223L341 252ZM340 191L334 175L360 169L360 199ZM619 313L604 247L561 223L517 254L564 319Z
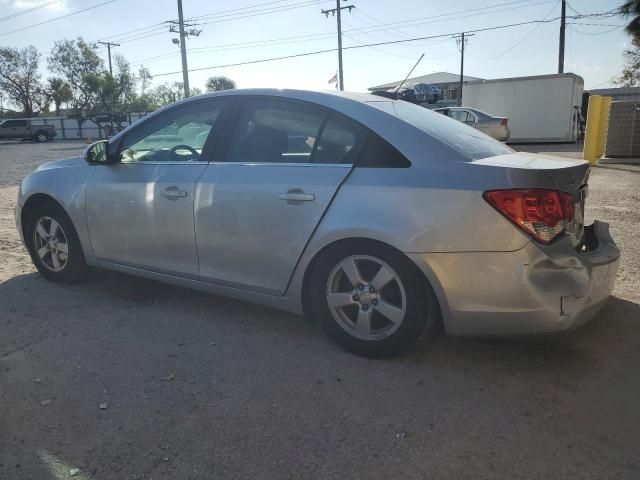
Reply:
M200 279L282 294L363 137L313 104L244 99L225 161L209 165L196 191Z

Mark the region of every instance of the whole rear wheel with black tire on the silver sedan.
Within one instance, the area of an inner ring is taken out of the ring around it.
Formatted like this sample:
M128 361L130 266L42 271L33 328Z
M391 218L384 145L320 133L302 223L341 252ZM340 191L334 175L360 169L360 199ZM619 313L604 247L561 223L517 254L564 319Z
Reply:
M358 355L397 355L433 325L434 299L415 265L377 242L350 241L324 252L310 288L325 332Z

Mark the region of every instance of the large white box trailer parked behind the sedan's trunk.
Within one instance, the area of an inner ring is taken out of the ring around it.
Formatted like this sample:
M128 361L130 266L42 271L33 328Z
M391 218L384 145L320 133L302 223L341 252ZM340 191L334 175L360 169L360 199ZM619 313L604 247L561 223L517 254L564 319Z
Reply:
M509 118L514 143L575 142L584 80L573 73L464 84L462 105Z

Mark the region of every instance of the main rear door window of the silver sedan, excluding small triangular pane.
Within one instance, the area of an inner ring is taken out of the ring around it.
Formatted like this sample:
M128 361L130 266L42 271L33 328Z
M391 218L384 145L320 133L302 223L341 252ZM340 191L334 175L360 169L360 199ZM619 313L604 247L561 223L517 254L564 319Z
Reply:
M247 100L229 143L228 162L310 163L326 114L299 102Z

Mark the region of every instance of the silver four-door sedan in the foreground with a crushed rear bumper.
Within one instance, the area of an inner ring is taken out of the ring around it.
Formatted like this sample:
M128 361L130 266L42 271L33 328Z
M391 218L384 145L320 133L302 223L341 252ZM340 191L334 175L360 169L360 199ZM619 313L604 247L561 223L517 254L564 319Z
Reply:
M23 182L16 223L54 282L88 266L306 314L387 356L448 334L565 330L618 249L583 225L589 165L516 153L371 95L189 98Z

